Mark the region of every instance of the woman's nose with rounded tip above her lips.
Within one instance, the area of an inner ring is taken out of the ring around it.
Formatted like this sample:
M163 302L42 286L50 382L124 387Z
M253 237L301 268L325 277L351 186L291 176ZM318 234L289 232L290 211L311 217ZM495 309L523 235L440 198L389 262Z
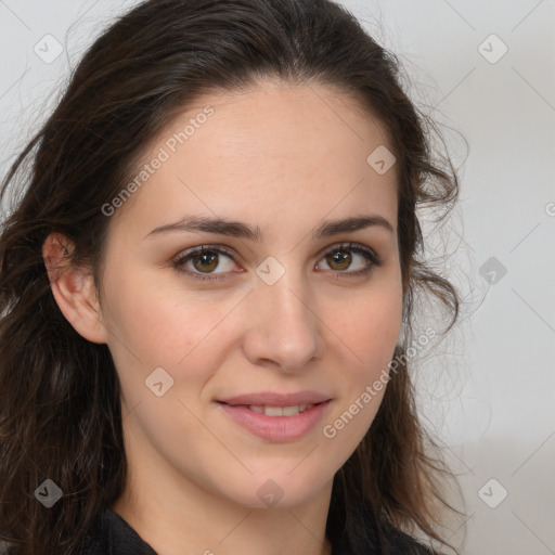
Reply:
M308 285L293 271L273 285L257 279L248 304L244 352L249 362L294 373L322 356L325 326Z

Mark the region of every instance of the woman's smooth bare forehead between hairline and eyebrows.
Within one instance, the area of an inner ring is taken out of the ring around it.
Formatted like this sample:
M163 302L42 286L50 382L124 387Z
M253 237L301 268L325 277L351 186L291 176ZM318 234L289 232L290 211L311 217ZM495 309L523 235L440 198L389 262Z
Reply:
M267 82L214 91L150 143L135 176L144 165L151 170L121 211L152 221L183 217L183 210L220 215L233 206L233 217L251 219L256 208L256 223L263 223L352 212L364 204L393 219L396 168L379 175L367 162L387 145L383 126L328 86Z

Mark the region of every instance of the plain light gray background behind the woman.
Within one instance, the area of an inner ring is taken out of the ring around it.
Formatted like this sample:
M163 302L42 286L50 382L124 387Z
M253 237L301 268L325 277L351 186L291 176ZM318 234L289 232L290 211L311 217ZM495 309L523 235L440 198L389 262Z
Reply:
M0 0L2 177L69 68L134 3ZM415 373L464 491L462 553L555 553L555 1L341 3L400 56L423 111L468 143L444 128L464 162L461 203L440 233L425 225L463 318ZM51 63L34 51L47 55L46 35L64 49Z

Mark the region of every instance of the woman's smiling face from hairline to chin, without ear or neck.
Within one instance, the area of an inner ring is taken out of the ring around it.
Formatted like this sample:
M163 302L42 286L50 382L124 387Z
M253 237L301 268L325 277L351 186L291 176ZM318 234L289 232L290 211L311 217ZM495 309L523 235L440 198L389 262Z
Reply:
M292 506L356 449L402 314L385 145L347 96L270 82L202 98L152 145L101 302L151 495Z

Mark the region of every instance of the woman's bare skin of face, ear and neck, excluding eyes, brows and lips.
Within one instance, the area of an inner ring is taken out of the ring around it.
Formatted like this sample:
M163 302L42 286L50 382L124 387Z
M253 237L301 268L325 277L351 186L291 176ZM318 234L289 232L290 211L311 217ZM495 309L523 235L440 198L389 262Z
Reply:
M401 326L395 166L378 175L366 163L388 143L354 100L327 86L270 81L203 96L144 160L206 105L214 115L111 217L100 301L90 273L63 266L72 244L56 234L43 246L52 291L78 333L113 354L129 463L113 508L157 553L330 553L333 477L384 390L333 439L322 429L387 369ZM259 227L263 238L192 231L145 238L193 215ZM323 220L363 215L382 216L393 231L311 236ZM382 264L349 276L369 262L344 249L351 266L326 258L341 242L374 250ZM172 264L201 245L233 249L233 259L220 255L210 267L223 279L194 280ZM256 273L269 256L285 270L273 285ZM145 378L160 366L173 386L157 397ZM307 389L333 400L322 422L285 442L253 436L215 402ZM257 495L269 479L283 491L273 507Z

